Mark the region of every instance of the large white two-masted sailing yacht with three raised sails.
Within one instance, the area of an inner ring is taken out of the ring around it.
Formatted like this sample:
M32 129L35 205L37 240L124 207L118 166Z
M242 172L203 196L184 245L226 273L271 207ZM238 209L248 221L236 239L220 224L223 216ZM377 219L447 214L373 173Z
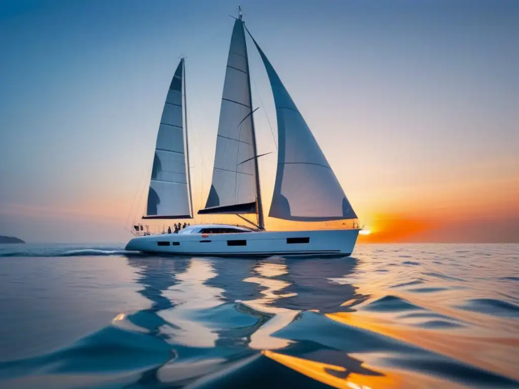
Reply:
M199 215L231 214L254 227L193 225L173 234L137 235L129 251L205 256L348 256L359 228L267 231L252 109L245 31L260 53L276 106L278 163L269 217L317 222L357 219L330 164L281 79L242 20L231 36L209 196ZM143 219L193 218L185 60L174 73L159 124ZM255 214L257 224L242 215ZM358 227L358 226L357 226ZM141 227L142 230L142 227Z

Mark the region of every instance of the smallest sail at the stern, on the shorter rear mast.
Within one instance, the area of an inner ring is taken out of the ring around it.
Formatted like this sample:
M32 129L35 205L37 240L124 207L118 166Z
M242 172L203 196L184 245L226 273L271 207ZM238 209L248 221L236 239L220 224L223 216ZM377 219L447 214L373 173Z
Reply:
M162 110L149 184L146 216L143 216L146 219L192 217L184 154L183 71L184 60L182 59L176 68Z

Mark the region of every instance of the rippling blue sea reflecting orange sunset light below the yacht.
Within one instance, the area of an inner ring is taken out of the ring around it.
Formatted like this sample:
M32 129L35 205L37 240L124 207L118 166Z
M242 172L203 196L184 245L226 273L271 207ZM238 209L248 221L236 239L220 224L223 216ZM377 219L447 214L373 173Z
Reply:
M519 387L519 245L0 246L0 387Z

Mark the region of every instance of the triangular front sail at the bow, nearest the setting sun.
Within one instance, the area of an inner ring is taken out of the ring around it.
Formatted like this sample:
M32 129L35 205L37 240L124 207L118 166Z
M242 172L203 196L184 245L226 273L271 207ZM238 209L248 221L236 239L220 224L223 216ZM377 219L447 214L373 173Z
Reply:
M252 39L270 80L278 122L278 166L269 216L296 221L357 218L305 119Z

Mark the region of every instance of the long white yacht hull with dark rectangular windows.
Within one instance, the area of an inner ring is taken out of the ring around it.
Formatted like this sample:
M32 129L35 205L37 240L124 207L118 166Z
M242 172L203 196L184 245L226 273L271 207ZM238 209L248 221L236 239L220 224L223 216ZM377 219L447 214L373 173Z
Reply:
M128 251L201 256L348 256L358 229L161 234L133 238ZM229 243L230 241L230 243Z

